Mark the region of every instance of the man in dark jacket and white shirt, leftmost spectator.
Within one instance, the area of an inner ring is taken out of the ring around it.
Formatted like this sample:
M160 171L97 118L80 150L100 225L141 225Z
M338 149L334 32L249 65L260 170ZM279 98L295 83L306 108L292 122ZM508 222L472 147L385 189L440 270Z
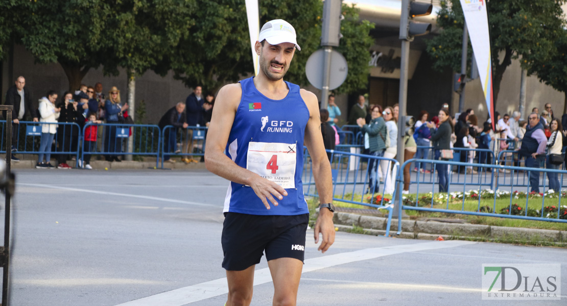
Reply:
M16 84L12 85L6 92L6 102L5 105L12 105L12 152L16 151L16 146L13 145L18 141L19 123L20 120L33 118L34 122L37 122L37 114L35 107L32 104L32 96L29 94L29 90L24 88L26 86L26 79L23 76L18 76L16 79ZM4 118L6 119L6 111L3 111ZM12 154L12 161L18 162L19 158Z

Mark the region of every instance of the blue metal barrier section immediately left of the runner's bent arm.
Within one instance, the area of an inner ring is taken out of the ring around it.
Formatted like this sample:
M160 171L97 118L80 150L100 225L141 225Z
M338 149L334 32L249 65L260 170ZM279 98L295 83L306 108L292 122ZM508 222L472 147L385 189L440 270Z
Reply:
M177 128L174 126L164 127L161 131L161 139L163 141L160 148L162 154L162 169L164 160L171 155L187 157L205 156L206 133L208 130L208 127L201 126L187 128Z

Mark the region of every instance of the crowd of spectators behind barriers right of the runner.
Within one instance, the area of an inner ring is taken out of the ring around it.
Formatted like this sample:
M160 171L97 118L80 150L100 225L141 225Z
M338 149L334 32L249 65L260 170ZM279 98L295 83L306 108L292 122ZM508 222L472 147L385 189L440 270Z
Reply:
M495 123L487 118L479 124L479 118L474 110L468 109L452 117L448 105L444 104L437 116L422 110L416 118L406 122L404 141L404 160L416 158L420 160L454 160L452 153L459 153L456 161L463 163L478 163L493 165L500 154L501 165L526 167L547 167L547 169L561 169L565 162L562 154L564 139L567 137L567 114L556 118L551 104L544 105L545 110L539 112L538 107L532 109L528 120L521 119L519 111L501 115L494 113ZM335 97L329 96L327 109L321 109L321 119L324 125L335 126L336 133L341 134L337 116L341 110L335 104ZM327 115L328 114L328 115ZM394 105L382 109L381 105L366 106L365 96L357 98L348 115L347 126L354 133L361 132L363 150L366 154L376 157L396 158L397 152L397 120L399 107ZM322 123L323 124L323 123ZM321 128L323 133L328 129ZM338 136L338 135L337 135ZM342 134L341 134L342 136ZM331 136L328 136L331 139ZM325 147L330 145L325 142ZM342 139L335 145L344 143ZM433 152L430 153L430 150ZM456 149L456 150L455 150ZM484 150L476 150L484 149ZM489 151L492 151L490 153ZM409 174L413 167L414 172L431 173L432 163L416 162L404 171L403 193L409 192ZM482 167L472 166L455 167L455 172L478 174ZM451 167L435 167L439 177L439 191L447 191L448 173ZM483 169L486 170L484 167ZM384 181L384 192L391 193L395 184L393 167L387 161L375 162L369 160L367 176L369 178L366 192L378 192L379 182ZM498 173L509 173L510 170L498 169ZM522 172L522 170L520 170ZM557 173L547 173L548 188L553 191L561 189ZM533 192L539 192L539 172L529 171L530 187Z

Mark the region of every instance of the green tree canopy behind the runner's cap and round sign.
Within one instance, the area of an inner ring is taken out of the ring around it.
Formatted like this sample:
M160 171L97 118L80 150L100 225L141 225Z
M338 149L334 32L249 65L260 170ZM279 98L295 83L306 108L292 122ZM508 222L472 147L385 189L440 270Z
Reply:
M368 21L358 21L358 9L343 5L341 31L344 38L337 48L349 64L346 81L336 92L366 89L370 61L369 49L373 39ZM294 55L286 80L306 85L305 65L309 55L320 48L321 14L319 0L265 0L260 2L260 23L284 19L297 32L301 51ZM175 77L188 87L202 85L215 92L222 84L238 81L253 74L251 50L243 0L203 1L195 18L192 35L181 40L169 56Z

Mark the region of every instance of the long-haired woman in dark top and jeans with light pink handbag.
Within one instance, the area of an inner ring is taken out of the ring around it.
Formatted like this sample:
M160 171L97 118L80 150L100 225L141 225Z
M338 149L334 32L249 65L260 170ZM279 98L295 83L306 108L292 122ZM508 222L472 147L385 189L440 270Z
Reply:
M446 109L439 110L439 127L435 130L435 124L427 123L431 131L431 142L433 143L434 160L452 160L451 133L453 126L451 117ZM449 172L447 165L435 165L439 175L439 192L448 192Z

